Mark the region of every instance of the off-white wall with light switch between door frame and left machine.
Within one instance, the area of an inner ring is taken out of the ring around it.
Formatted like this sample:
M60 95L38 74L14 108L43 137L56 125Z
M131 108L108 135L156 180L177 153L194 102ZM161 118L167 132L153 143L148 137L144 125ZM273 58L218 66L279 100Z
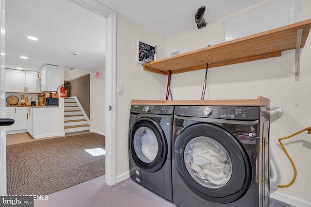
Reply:
M164 38L117 14L117 82L123 84L123 94L117 95L117 175L129 170L128 124L131 100L165 98L166 77L143 71L142 65L136 63L136 39L156 45L158 59L164 58Z

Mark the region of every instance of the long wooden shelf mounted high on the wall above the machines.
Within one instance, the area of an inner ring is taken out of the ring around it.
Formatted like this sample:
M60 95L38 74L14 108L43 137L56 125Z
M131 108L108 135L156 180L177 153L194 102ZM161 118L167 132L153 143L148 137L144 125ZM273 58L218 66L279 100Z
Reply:
M167 75L238 64L281 56L281 51L296 48L297 30L303 29L301 48L305 46L311 20L260 32L240 39L143 64L143 70Z

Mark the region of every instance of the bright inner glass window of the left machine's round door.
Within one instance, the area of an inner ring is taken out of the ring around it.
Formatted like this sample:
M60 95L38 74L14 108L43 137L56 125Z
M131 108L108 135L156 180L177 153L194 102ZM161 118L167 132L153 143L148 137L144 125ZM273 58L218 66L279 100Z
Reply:
M141 137L140 147L145 158L150 161L155 159L158 151L158 145L155 133L151 129L145 129L143 136Z

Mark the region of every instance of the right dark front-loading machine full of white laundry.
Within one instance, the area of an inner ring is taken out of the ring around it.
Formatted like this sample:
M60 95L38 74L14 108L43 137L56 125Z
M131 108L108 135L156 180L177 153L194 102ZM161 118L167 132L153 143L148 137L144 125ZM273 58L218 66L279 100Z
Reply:
M267 207L269 107L175 106L173 202Z

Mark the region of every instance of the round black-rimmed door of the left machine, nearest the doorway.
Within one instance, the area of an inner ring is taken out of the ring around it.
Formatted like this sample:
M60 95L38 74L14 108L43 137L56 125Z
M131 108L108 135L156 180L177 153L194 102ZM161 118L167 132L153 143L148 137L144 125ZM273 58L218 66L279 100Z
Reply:
M156 172L165 163L167 140L153 119L140 118L130 130L129 150L136 165L147 172Z

